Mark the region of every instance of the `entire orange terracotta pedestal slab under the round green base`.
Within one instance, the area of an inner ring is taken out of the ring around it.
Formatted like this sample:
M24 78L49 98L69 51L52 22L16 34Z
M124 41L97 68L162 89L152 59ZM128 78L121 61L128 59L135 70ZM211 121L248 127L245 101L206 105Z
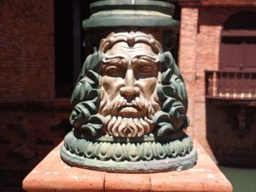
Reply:
M125 174L71 167L61 161L59 147L52 150L23 180L25 191L232 191L197 141L197 165L182 172Z

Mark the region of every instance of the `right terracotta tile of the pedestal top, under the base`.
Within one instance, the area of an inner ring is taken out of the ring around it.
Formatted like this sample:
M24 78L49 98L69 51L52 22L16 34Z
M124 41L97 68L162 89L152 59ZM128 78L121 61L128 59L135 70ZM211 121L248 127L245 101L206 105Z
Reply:
M198 151L197 164L181 172L151 174L151 192L157 191L232 191L232 185L206 151L195 140Z

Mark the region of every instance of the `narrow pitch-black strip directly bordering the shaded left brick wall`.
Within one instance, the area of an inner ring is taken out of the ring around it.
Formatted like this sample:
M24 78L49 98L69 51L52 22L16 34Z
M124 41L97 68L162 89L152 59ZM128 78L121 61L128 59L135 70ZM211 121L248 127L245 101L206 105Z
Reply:
M72 92L72 6L69 0L54 1L56 97Z

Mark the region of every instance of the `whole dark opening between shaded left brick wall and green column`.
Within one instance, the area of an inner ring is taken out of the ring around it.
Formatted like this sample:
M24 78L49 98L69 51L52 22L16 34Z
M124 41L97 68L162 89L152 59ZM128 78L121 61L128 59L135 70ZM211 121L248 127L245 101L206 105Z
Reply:
M85 58L82 20L90 1L55 0L56 97L70 98Z

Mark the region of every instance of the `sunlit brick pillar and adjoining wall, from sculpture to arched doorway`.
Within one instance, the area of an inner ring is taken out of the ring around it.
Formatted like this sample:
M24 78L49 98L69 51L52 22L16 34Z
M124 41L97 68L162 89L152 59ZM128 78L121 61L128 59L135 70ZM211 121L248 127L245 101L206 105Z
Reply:
M206 151L214 158L206 139L206 97L205 97L205 69L217 66L219 49L219 26L207 28L199 23L199 7L183 7L181 9L181 36L179 50L179 68L187 85L189 108L187 116L190 126L187 134L197 138ZM200 30L203 33L200 34ZM214 31L211 31L216 29ZM208 34L212 34L209 38ZM200 38L200 39L199 39ZM218 44L218 46L213 46ZM213 48L215 47L215 49ZM209 58L211 57L211 58ZM213 63L213 64L211 64ZM210 67L209 67L210 66ZM212 67L211 67L212 66Z

